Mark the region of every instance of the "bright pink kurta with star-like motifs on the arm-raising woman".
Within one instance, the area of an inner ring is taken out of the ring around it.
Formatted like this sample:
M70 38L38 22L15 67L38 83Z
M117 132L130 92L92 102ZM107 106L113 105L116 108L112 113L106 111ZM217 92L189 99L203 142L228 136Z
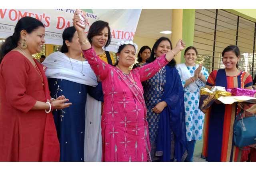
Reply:
M126 75L120 69L100 60L92 48L83 53L92 70L102 80L102 161L150 160L146 106L141 82L151 78L168 64L165 55Z

